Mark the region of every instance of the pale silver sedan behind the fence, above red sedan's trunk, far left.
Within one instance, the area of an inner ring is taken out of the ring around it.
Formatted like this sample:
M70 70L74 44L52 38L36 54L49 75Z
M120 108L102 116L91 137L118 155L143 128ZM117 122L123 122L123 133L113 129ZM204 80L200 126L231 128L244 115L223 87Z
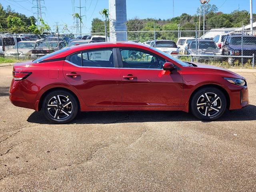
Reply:
M36 48L41 42L40 41L20 41L8 51L5 52L6 57L17 57L19 52L19 57L30 57L32 49ZM17 49L18 47L18 49Z

